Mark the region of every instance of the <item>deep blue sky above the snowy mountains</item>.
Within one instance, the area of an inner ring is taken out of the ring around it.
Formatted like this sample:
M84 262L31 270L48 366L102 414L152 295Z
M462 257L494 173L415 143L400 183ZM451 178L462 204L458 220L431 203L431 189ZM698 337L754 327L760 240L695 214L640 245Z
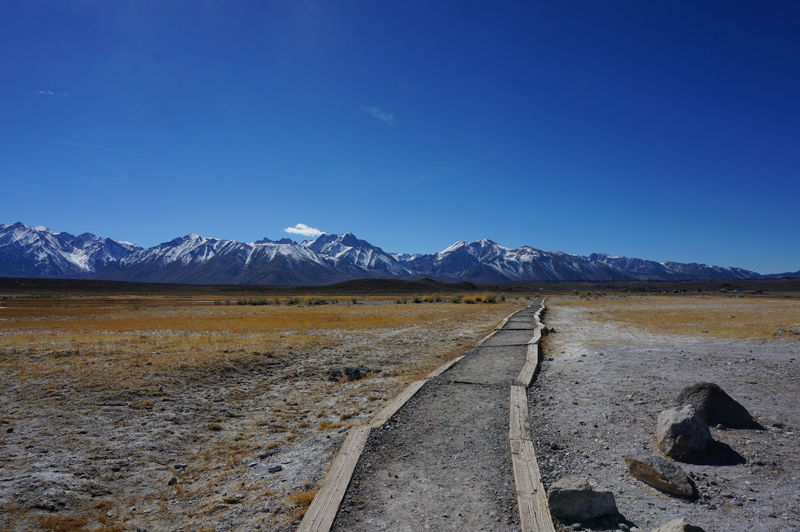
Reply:
M796 271L800 3L8 0L0 185L0 223L142 246Z

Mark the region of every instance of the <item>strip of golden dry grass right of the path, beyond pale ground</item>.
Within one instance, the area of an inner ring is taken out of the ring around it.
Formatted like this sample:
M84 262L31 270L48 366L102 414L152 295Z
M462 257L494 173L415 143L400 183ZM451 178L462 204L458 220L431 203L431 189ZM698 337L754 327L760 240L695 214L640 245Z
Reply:
M772 339L777 329L800 330L800 300L728 297L558 297L554 305L578 306L588 317L650 332L734 340ZM797 338L792 334L783 338Z

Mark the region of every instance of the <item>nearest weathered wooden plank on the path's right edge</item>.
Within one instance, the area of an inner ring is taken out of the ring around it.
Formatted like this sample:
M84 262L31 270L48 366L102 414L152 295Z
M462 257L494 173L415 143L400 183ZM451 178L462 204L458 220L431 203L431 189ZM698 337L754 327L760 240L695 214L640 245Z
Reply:
M511 464L522 532L555 532L533 442L511 440Z

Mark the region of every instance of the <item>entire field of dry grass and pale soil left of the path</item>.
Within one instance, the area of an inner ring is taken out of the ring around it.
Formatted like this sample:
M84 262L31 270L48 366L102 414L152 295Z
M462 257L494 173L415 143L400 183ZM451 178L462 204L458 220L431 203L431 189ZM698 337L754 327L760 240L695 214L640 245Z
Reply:
M0 301L0 529L290 530L350 426L527 304L350 299Z

